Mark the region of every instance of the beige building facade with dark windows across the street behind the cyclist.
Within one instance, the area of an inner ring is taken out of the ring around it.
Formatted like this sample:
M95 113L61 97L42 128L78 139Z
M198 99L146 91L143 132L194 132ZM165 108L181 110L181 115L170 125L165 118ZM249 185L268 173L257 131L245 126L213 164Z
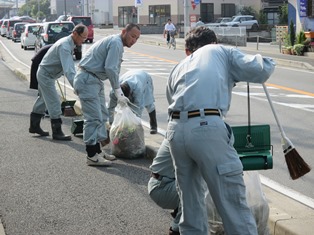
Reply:
M197 1L195 1L197 2ZM138 4L137 4L138 3ZM184 24L184 12L188 12L189 23L202 17L205 23L214 22L218 17L232 17L244 6L257 12L261 0L115 0L113 1L113 24L123 27L127 23L162 26L168 18L174 24Z

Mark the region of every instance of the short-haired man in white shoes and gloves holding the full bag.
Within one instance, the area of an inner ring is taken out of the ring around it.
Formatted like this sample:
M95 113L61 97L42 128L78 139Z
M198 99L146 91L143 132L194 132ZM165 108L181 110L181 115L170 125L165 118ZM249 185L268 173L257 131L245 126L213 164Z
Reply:
M121 34L110 35L94 43L78 65L74 90L80 98L84 115L83 141L89 166L108 166L111 164L110 160L115 159L115 156L101 149L109 139L105 125L108 109L104 81L109 79L118 102L124 105L129 102L119 84L123 47L133 46L140 34L138 25L128 24Z

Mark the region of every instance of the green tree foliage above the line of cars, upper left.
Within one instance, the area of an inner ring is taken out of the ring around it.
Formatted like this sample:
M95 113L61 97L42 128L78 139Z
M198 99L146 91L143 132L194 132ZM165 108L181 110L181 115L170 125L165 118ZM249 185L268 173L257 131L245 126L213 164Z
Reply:
M19 9L19 15L29 15L33 18L39 19L45 18L50 15L50 1L39 0L38 8L38 0L30 0Z

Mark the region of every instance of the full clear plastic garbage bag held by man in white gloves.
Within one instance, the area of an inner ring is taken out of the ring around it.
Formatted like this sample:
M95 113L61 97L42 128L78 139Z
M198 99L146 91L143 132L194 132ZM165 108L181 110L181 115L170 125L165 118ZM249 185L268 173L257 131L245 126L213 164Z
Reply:
M118 104L110 128L111 154L117 158L139 158L146 153L141 119L127 105Z

